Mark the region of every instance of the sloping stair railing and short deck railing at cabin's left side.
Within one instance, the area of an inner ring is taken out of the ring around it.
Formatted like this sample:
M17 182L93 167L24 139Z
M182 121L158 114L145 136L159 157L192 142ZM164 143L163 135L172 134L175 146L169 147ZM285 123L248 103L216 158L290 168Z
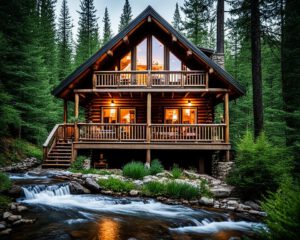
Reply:
M44 159L47 158L48 152L53 148L58 140L72 139L74 139L74 124L56 124L43 144Z

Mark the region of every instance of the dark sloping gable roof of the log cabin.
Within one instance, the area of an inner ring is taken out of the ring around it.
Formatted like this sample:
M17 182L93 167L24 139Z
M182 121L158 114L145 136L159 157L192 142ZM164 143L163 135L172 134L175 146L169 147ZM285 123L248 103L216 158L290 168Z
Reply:
M163 17L161 17L150 5L134 20L132 20L129 25L114 36L107 44L105 44L99 51L97 51L93 56L81 64L73 73L66 77L60 84L52 91L52 94L59 96L59 94L71 84L77 77L79 77L84 71L90 68L103 54L109 51L114 45L116 45L120 40L122 40L129 32L131 32L142 20L148 16L153 17L158 21L163 27L165 27L170 33L172 33L181 43L187 46L196 54L204 63L214 69L214 71L223 77L231 86L235 88L238 95L245 94L245 88L241 86L227 71L221 68L217 63L210 59L204 51L209 49L199 48L189 41L186 37L180 34L176 29L174 29L171 24L169 24ZM202 50L201 50L202 49Z

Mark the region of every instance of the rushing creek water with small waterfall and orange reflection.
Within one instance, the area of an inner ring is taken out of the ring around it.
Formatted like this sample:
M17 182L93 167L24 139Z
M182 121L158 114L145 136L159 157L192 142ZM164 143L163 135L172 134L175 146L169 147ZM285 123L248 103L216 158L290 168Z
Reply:
M26 176L24 176L26 178ZM31 179L35 183L36 179ZM24 185L29 207L10 239L229 239L252 236L260 223L231 214L166 205L155 200L71 195L67 183Z

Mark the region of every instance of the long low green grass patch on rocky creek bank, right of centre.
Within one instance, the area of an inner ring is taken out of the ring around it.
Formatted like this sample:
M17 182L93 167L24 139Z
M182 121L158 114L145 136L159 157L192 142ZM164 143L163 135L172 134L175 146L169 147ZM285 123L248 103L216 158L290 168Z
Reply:
M143 193L150 196L166 196L169 198L191 200L201 196L199 188L187 183L168 183L149 182L143 186Z

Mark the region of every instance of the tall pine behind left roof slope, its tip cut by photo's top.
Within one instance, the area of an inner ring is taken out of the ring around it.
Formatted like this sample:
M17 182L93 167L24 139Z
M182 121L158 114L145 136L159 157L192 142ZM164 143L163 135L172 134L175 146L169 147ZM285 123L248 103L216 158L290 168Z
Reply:
M81 0L75 65L81 65L99 46L98 24L93 0Z

